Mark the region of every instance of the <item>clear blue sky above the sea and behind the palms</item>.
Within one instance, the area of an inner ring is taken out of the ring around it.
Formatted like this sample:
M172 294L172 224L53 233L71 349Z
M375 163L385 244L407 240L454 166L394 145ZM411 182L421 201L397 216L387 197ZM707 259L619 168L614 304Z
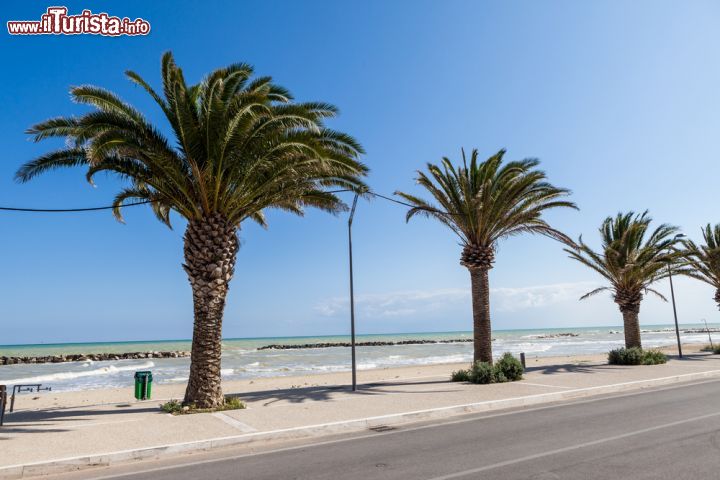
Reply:
M54 4L3 3L2 22L36 20ZM720 4L713 1L271 0L69 1L142 17L141 37L0 34L0 206L107 205L121 187L82 170L17 184L17 168L61 142L25 129L81 114L72 85L108 88L168 132L157 107L124 78L159 84L172 50L188 81L234 62L254 65L301 101L337 105L332 128L365 147L378 193L422 193L417 169L460 149L536 157L579 211L547 220L599 246L618 211L649 209L657 223L700 240L720 222ZM351 200L351 198L347 198ZM0 344L184 339L192 301L182 263L184 222L170 230L146 207L126 224L107 211L0 212ZM360 201L353 224L359 333L472 328L469 275L453 234L404 208ZM347 214L268 212L243 224L224 320L228 338L349 331ZM490 273L495 329L620 325L603 283L561 245L518 237L499 245ZM718 322L710 287L677 279L681 323ZM666 282L657 285L669 294ZM672 322L647 298L642 324Z

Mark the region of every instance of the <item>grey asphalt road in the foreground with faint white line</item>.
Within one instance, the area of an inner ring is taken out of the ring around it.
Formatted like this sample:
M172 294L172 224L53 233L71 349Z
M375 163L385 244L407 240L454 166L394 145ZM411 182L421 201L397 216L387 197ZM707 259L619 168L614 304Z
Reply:
M718 479L720 380L235 455L84 478Z

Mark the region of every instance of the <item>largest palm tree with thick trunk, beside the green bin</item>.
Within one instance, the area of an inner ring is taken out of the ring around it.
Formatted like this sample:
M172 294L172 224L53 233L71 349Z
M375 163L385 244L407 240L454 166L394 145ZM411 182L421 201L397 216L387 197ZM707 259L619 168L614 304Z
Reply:
M170 52L162 58L162 94L137 73L127 77L159 105L172 143L159 127L114 93L80 86L73 100L94 107L80 117L52 118L28 130L36 141L64 137L66 147L23 165L27 182L60 167L112 172L129 185L114 199L122 221L127 200L150 204L170 226L170 212L187 220L185 269L192 287L194 327L185 403L212 408L224 402L220 379L222 318L246 220L266 226L264 210L302 215L304 207L337 212L345 205L325 187L362 190L362 147L330 130L326 103L294 103L270 77L251 78L239 63L188 85Z

